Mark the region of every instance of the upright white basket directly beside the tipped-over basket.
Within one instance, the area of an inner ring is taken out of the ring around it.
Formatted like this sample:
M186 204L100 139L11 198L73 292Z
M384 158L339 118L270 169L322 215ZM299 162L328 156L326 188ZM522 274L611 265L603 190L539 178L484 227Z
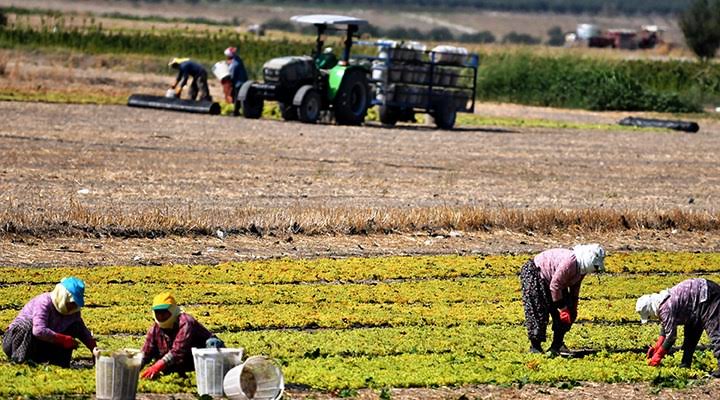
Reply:
M195 380L199 395L221 397L223 378L234 366L242 362L243 349L198 349L193 347Z

